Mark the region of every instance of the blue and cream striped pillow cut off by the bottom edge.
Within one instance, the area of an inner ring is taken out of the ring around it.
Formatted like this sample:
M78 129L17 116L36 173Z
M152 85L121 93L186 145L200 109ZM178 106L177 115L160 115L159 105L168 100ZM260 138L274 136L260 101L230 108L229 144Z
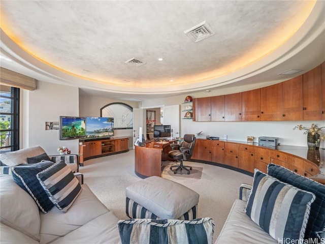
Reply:
M130 219L117 223L122 244L211 244L214 222L211 218L195 220Z

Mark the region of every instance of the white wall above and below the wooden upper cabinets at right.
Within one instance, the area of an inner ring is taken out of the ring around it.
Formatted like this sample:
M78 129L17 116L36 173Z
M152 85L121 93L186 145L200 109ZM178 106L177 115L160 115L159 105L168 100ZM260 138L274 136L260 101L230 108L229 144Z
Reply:
M233 91L233 92L232 92ZM222 94L231 94L240 92L236 90L218 90L215 93L192 93L188 94L192 98L212 97ZM187 96L187 95L186 95ZM142 107L155 105L175 105L182 104L186 96L173 96L166 99L149 100L142 102ZM180 114L182 118L184 114ZM203 131L210 136L218 136L220 139L223 135L228 135L228 140L246 141L247 136L254 136L254 142L258 142L259 136L278 137L279 142L283 145L307 146L307 135L304 131L293 130L297 125L310 127L314 123L319 127L325 126L325 121L253 121L253 122L195 122L191 119L181 119L180 135L186 133L196 134ZM325 130L322 131L325 133ZM325 141L320 143L320 147L325 148Z

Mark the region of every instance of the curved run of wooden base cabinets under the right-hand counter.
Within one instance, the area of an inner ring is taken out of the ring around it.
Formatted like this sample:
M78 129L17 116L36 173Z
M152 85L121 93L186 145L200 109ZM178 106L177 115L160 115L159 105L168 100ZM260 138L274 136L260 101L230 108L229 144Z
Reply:
M312 159L320 159L320 156L314 154L313 151L308 151L308 156L304 159L271 147L222 140L197 139L191 159L212 164L223 164L251 174L255 168L267 173L268 164L273 163L297 174L312 177L319 173L319 168L313 163Z

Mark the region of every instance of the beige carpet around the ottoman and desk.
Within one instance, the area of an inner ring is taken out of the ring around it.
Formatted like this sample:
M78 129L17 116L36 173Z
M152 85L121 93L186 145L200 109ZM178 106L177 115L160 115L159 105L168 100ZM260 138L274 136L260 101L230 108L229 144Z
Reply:
M214 239L221 228L244 182L252 183L252 177L208 164L184 162L192 166L191 174L174 174L170 169L173 162L163 162L161 176L200 194L198 217L211 217L215 222ZM84 183L119 219L128 219L125 214L125 188L141 180L134 173L134 150L127 153L87 160L80 172Z

